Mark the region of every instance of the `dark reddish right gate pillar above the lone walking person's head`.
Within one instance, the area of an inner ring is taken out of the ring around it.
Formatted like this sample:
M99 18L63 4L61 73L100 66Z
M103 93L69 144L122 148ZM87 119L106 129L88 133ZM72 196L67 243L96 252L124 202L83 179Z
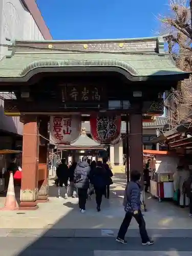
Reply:
M130 170L140 170L141 184L143 184L143 140L142 140L142 114L130 115Z

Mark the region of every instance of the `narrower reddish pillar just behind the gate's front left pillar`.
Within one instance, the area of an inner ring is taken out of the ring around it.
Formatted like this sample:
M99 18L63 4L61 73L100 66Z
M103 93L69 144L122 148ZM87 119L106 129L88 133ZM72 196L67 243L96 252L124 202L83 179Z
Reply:
M38 203L48 202L49 191L49 118L47 116L39 118L39 168L38 168Z

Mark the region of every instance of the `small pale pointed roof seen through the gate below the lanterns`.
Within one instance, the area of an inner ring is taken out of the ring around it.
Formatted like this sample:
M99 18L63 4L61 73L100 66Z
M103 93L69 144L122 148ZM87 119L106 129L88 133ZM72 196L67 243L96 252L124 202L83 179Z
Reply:
M69 145L58 145L59 150L105 150L105 146L91 139L86 134L86 128L82 128L79 138Z

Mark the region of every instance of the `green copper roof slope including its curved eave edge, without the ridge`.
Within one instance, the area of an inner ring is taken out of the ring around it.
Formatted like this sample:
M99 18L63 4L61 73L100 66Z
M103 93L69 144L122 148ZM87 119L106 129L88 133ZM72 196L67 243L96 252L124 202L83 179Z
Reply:
M131 81L183 80L189 73L165 54L15 54L0 61L0 81L25 82L39 72L118 72Z

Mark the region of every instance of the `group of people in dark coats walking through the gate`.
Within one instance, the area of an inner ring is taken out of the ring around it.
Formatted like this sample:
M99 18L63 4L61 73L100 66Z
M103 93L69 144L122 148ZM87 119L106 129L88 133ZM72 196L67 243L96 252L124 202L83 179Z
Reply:
M63 195L68 198L69 187L72 198L78 195L79 209L83 213L86 211L88 197L95 193L97 211L100 211L102 196L110 197L110 185L113 184L113 173L107 161L88 161L86 156L79 162L73 162L70 166L66 164L66 159L62 159L56 169L56 185L58 186L58 197Z

